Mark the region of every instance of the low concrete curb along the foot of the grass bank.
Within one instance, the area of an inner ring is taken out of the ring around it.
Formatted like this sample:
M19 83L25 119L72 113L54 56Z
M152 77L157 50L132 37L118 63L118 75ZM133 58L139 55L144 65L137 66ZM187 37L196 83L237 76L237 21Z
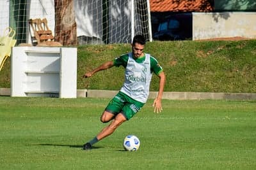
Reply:
M77 97L111 98L117 90L89 90L78 89ZM9 88L0 88L0 96L10 96ZM157 92L150 92L148 99L154 99ZM170 100L204 100L204 99L226 99L226 100L256 100L256 93L223 93L223 92L164 92L163 99Z

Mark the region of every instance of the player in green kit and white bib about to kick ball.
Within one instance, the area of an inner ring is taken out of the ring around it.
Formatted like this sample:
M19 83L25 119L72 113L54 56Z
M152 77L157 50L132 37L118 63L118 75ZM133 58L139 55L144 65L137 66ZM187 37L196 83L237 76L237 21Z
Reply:
M159 77L159 91L153 103L154 113L159 113L163 110L161 99L165 74L157 60L150 54L143 52L145 44L145 38L141 35L136 35L132 40L132 52L121 55L113 61L104 62L96 69L83 75L83 78L90 78L98 71L109 69L113 66L123 66L125 68L124 85L118 94L111 99L100 117L102 123L112 121L95 138L83 145L84 150L91 149L93 144L112 134L117 127L132 118L143 107L148 98L152 73Z

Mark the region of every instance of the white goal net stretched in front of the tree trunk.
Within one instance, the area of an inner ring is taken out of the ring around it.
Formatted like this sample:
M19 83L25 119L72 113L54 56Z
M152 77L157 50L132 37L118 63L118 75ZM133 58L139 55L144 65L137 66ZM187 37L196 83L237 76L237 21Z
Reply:
M149 0L1 0L0 34L16 31L32 44L29 19L46 18L54 41L63 45L131 43L136 34L152 40Z

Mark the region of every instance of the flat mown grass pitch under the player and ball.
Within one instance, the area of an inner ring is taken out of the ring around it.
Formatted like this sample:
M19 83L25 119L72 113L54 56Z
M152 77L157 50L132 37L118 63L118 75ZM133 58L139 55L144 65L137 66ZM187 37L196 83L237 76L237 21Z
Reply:
M0 169L255 169L256 101L152 100L112 136L81 150L106 124L109 99L0 97ZM141 141L125 152L127 134Z

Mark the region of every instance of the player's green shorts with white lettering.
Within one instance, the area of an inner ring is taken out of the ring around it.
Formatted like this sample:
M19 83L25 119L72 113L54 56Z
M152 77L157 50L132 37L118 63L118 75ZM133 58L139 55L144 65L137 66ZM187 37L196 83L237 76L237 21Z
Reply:
M122 113L127 120L132 118L142 107L144 103L136 101L127 96L123 92L118 92L116 96L109 102L106 111L117 115Z

